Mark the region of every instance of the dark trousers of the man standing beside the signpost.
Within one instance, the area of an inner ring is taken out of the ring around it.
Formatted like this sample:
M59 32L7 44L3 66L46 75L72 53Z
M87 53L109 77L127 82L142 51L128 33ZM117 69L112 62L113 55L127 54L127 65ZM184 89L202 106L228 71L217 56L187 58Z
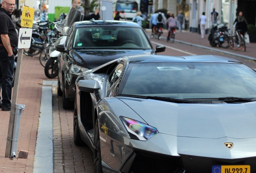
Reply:
M11 106L14 59L14 54L9 57L5 48L0 46L0 90L2 87L2 107Z

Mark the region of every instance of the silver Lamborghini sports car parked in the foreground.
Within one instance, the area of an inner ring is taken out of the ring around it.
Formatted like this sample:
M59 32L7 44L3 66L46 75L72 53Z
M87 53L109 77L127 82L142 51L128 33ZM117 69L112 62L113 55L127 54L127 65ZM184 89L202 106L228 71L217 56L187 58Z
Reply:
M222 56L126 56L76 79L95 173L256 173L256 71Z

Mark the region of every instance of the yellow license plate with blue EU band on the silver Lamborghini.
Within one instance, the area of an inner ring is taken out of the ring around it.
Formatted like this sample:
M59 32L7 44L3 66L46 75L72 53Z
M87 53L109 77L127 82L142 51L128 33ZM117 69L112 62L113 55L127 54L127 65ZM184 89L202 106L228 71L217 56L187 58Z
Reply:
M218 165L213 166L212 173L250 173L250 165Z

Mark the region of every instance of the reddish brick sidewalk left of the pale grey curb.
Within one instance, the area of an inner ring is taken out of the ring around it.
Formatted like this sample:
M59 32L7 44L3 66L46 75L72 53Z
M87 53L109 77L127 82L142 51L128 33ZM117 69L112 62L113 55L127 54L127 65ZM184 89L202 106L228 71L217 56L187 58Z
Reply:
M20 150L29 151L27 159L11 159L5 157L6 137L10 113L0 111L0 172L1 173L32 173L35 155L37 125L42 92L42 82L48 80L38 56L23 55L17 104L25 105L21 115L17 157Z

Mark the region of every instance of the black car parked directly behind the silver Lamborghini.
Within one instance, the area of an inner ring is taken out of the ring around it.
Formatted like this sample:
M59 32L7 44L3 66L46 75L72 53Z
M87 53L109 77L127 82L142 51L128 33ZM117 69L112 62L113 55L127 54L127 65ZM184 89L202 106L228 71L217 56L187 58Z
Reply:
M154 50L145 30L134 22L81 21L69 28L64 44L56 46L58 57L58 95L63 96L63 108L74 106L75 80L86 70L123 56L156 54L165 51L157 45Z

